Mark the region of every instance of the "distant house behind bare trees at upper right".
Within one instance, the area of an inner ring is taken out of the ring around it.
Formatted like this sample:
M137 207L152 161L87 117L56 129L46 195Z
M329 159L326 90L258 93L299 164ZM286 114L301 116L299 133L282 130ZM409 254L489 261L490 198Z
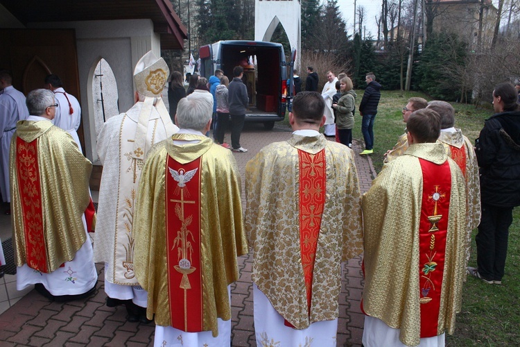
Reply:
M491 0L433 0L433 3L437 6L434 32L456 33L469 44L469 49L476 50L481 30L481 47L491 46L498 12Z

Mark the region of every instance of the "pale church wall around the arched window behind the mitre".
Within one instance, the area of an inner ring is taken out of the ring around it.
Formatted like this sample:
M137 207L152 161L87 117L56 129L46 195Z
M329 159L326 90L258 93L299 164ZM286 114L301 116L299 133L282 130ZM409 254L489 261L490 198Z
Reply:
M134 104L133 71L137 61L150 50L160 56L160 37L150 19L82 21L32 24L32 28L74 28L78 49L78 70L85 152L96 162L96 126L92 82L100 57L112 67L119 91L119 110Z

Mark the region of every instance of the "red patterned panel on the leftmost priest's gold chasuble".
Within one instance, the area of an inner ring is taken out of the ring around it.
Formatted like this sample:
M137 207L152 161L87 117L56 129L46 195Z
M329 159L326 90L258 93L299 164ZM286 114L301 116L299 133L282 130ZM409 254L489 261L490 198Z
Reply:
M24 216L26 263L31 269L47 273L37 139L25 142L17 137L16 167L21 213Z

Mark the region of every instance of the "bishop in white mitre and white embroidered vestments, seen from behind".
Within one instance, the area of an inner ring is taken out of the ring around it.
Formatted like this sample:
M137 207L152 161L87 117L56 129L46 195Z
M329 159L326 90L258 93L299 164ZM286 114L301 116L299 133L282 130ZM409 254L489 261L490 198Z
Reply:
M98 136L103 164L99 189L94 260L105 262L107 305L125 305L128 321L148 322L146 291L134 273L132 237L135 201L144 159L156 142L179 130L172 123L161 93L170 71L162 58L146 53L135 67L135 105L107 120Z

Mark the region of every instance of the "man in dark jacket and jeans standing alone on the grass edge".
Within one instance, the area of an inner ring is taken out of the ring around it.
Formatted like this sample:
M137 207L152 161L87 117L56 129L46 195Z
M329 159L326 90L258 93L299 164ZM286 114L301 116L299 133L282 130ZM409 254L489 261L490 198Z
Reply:
M376 82L376 75L369 72L365 76L367 87L363 99L359 104L359 114L363 116L361 121L361 133L365 139L365 151L359 153L361 155L374 153L374 120L377 115L377 105L381 99L381 85Z

